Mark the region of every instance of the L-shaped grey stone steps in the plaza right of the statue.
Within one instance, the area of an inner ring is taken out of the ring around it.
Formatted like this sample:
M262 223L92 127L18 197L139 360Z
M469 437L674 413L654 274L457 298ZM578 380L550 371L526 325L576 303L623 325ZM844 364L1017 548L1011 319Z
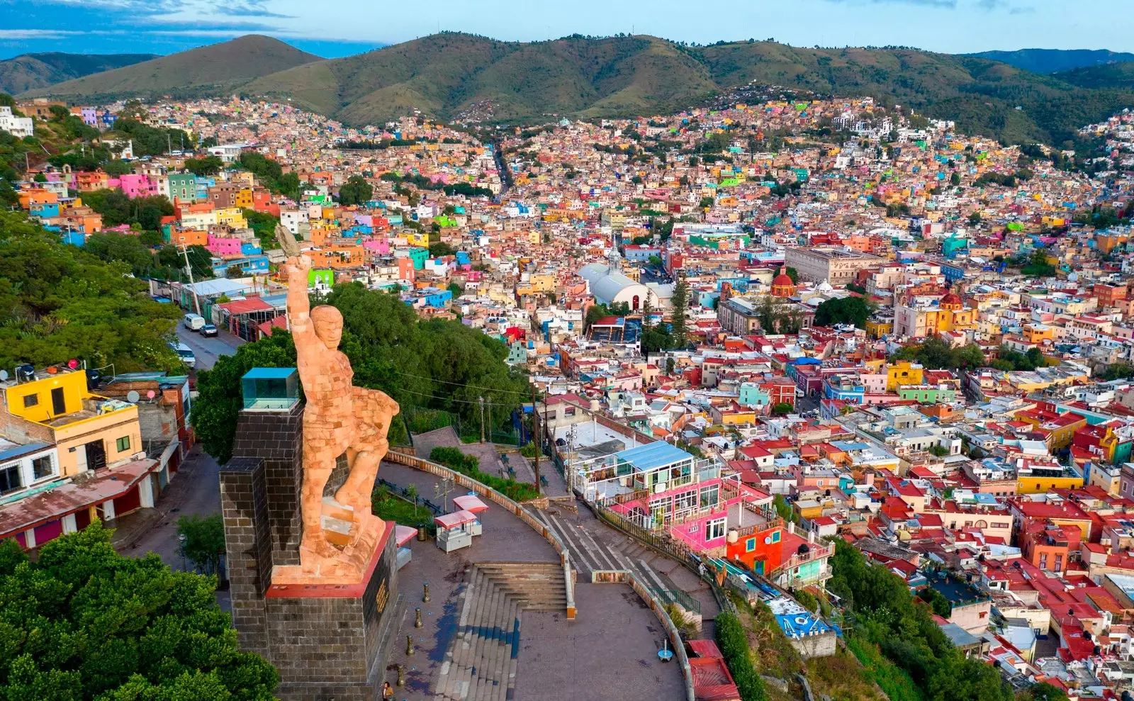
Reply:
M562 565L482 563L468 577L457 635L441 664L434 699L509 701L516 683L522 611L566 608Z

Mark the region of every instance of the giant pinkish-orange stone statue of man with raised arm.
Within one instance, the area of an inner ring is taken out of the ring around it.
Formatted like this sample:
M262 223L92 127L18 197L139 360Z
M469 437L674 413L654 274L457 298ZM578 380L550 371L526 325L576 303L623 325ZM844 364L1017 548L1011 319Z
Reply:
M277 567L272 583L353 584L362 581L386 530L371 512L371 492L398 405L381 391L354 387L350 361L338 349L342 314L329 305L311 309L307 273L312 261L298 254L294 238L280 238L291 254L285 268L287 312L306 406L299 565ZM349 475L333 498L324 497L331 472L344 455Z

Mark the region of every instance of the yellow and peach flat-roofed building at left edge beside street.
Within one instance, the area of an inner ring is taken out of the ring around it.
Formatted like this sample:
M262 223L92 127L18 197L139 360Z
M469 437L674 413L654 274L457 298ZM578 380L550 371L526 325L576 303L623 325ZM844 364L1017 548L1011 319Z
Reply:
M113 466L143 451L137 406L92 394L82 370L11 385L3 400L3 432L54 444L60 476Z

